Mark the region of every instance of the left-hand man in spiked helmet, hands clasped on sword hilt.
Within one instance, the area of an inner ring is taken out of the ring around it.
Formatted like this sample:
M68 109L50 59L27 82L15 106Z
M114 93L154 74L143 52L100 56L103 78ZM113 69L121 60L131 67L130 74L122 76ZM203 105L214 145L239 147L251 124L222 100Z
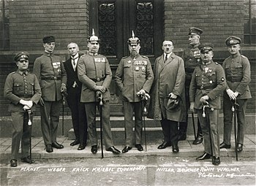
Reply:
M91 142L91 152L97 153L98 140L96 131L96 107L99 107L98 97L102 95L102 130L107 151L119 154L120 151L113 146L110 126L110 82L112 72L108 59L99 55L99 39L92 32L88 39L88 55L82 55L78 61L78 79L82 82L80 101L85 104L88 124L88 135Z

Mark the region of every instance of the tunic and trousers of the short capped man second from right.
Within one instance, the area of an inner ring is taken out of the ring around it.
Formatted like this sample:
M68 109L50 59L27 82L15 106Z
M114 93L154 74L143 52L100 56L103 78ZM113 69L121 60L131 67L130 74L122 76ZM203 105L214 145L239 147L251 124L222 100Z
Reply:
M225 73L218 63L209 61L205 65L201 64L195 68L189 88L190 102L195 102L195 109L199 117L203 136L205 139L205 152L219 157L219 131L218 117L221 109L221 96L226 88ZM203 104L200 98L208 96L208 106L206 117L203 117ZM207 114L208 113L208 114ZM208 118L208 122L206 121ZM211 152L209 125L211 128L211 142L213 150Z

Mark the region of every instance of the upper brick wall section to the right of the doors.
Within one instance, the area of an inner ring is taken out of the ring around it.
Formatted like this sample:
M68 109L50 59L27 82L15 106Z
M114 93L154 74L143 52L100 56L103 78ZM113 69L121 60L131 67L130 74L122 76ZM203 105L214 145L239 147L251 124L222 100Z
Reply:
M243 39L244 0L165 0L165 39L176 47L187 44L188 29L203 29L201 42L225 47L227 36Z

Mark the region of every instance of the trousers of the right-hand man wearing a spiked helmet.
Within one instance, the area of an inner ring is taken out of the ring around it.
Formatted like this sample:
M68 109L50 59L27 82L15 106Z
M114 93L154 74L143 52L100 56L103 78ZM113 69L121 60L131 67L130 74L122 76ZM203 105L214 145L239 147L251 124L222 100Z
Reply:
M135 113L135 124L133 123L133 111ZM124 128L125 128L125 145L132 147L133 131L135 126L135 144L141 144L143 122L142 102L126 102L124 101Z

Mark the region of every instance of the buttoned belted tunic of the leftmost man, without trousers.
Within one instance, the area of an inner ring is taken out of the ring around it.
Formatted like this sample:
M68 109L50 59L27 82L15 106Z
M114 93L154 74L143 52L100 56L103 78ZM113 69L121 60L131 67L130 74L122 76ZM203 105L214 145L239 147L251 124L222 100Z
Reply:
M10 112L25 112L23 104L20 104L20 99L33 101L31 110L35 110L35 104L41 98L41 89L35 74L28 71L15 71L7 76L4 85L4 96L9 99Z

